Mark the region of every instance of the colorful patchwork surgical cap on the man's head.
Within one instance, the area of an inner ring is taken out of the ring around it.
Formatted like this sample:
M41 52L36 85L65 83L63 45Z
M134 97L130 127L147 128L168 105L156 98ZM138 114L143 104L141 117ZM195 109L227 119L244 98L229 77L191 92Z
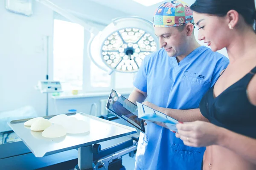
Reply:
M160 5L153 17L154 27L174 27L194 23L192 10L181 0L168 0Z

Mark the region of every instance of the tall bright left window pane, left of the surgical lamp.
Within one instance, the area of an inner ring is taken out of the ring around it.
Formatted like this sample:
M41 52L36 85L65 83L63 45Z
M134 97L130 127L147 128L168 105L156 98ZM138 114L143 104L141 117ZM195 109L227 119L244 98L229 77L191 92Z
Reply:
M82 90L84 28L76 23L54 20L53 79L63 91Z

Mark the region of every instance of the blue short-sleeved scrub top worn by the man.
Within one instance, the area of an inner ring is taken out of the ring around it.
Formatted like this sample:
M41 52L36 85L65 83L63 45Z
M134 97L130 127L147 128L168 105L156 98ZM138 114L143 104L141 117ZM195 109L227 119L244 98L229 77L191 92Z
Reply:
M134 86L147 92L147 101L172 109L199 108L205 92L215 84L229 59L200 46L179 63L162 48L142 62ZM188 147L175 133L147 122L140 133L137 170L200 170L205 147Z

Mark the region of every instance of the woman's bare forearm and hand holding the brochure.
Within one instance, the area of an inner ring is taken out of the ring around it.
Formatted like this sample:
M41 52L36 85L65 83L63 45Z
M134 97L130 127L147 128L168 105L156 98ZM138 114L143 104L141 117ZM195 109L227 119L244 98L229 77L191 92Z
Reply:
M177 124L176 127L176 137L182 139L187 146L205 147L217 144L256 164L256 139L202 121Z

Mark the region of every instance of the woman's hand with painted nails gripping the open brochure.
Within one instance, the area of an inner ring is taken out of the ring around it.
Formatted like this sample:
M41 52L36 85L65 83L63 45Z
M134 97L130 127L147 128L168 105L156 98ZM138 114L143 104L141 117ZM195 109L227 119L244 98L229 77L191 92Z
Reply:
M176 137L191 147L206 147L221 140L221 127L209 122L195 121L178 123Z

